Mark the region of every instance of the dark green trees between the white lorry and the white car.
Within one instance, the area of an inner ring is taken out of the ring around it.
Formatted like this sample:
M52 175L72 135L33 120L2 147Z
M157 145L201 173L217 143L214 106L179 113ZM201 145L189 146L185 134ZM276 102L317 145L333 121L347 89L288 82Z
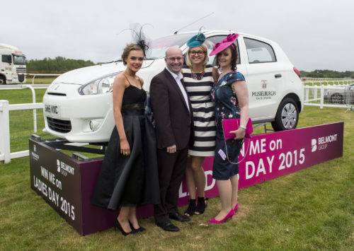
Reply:
M62 74L92 65L95 64L91 60L66 59L65 57L56 57L55 59L45 57L44 59L30 59L26 62L29 74Z

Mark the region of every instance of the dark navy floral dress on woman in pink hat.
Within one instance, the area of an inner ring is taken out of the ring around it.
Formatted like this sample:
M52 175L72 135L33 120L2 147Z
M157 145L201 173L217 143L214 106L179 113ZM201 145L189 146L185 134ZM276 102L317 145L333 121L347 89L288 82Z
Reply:
M212 101L215 103L215 124L217 127L212 169L212 177L215 180L229 180L229 177L239 173L239 165L234 163L238 162L244 140L229 139L224 141L222 119L239 119L240 110L237 108L239 100L232 89L232 83L244 80L244 75L241 72L231 71L215 82L210 91Z

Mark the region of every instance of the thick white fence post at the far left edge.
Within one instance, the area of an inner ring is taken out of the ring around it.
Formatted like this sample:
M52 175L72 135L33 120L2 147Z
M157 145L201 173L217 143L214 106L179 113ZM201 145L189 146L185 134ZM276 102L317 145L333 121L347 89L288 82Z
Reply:
M4 163L10 163L11 161L8 100L0 100L0 159L4 159Z

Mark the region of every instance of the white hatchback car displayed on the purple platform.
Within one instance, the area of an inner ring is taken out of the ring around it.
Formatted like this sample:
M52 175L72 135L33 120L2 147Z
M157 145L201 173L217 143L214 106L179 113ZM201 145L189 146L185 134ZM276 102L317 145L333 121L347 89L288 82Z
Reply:
M209 52L229 31L204 31ZM149 90L152 78L165 67L166 49L177 45L185 54L186 42L194 33L181 33L152 41L138 75ZM249 86L250 117L253 123L272 122L276 131L294 129L304 105L304 89L299 71L278 44L255 35L239 33L237 69ZM209 57L209 63L215 56ZM43 97L45 129L72 142L107 142L115 126L112 84L125 70L122 61L84 67L62 74Z

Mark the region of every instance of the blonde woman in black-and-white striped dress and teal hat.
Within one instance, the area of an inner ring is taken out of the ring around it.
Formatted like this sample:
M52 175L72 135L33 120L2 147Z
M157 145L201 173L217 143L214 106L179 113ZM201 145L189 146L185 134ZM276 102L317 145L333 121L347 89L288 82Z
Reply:
M207 65L207 46L203 44L205 35L199 33L192 37L183 66L183 81L193 107L195 143L188 151L185 179L189 192L189 205L186 216L203 214L206 206L205 173L202 163L207 156L215 155L215 111L210 98L210 89L217 79L218 71ZM198 190L198 202L196 189Z

